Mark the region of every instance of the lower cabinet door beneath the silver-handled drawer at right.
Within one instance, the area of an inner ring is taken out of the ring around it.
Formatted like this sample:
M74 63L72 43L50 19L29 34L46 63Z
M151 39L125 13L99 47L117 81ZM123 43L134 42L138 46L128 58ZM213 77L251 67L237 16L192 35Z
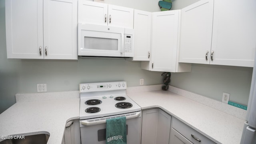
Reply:
M172 132L170 136L170 144L193 144L193 143L172 128Z

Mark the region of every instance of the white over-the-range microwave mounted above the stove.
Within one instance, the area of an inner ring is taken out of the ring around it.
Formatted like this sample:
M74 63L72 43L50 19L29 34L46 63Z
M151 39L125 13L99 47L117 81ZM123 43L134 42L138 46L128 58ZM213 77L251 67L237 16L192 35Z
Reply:
M134 56L134 29L78 24L78 56Z

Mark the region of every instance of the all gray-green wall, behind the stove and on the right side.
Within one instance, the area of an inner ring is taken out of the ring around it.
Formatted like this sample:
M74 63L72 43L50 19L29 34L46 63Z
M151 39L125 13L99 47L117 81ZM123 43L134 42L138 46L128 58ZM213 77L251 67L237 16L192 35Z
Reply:
M173 3L181 1L185 5L191 2L174 0ZM120 6L128 5L128 1L123 0L105 2ZM163 83L162 72L142 70L140 62L120 58L7 59L4 4L4 0L0 0L0 113L15 103L16 93L36 92L38 83L46 83L48 92L78 90L78 84L81 82L126 80L128 87L131 87L139 86L139 79L144 78L145 85ZM182 8L184 4L175 5ZM158 0L131 0L128 7L150 12L159 10ZM230 100L247 105L251 76L252 68L192 64L192 72L172 73L170 84L219 101L222 92L228 92Z

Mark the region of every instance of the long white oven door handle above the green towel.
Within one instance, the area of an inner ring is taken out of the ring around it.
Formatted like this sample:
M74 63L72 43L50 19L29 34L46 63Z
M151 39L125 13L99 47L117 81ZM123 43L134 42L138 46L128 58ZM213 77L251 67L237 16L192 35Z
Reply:
M141 112L136 112L135 114L124 114L124 115L118 115L118 116L109 116L109 117L106 117L106 118L98 118L98 119L89 119L89 120L83 120L81 121L81 124L83 125L94 125L94 124L104 124L106 123L106 119L110 119L110 118L119 118L119 117L122 117L122 116L126 116L126 120L127 119L131 119L131 118L137 118L139 117L141 114ZM100 119L100 120L99 120Z

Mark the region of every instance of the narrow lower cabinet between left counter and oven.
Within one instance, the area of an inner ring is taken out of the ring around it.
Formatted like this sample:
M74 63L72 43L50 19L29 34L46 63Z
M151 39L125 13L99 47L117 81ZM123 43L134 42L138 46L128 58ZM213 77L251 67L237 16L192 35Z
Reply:
M66 123L61 144L81 144L79 119Z

